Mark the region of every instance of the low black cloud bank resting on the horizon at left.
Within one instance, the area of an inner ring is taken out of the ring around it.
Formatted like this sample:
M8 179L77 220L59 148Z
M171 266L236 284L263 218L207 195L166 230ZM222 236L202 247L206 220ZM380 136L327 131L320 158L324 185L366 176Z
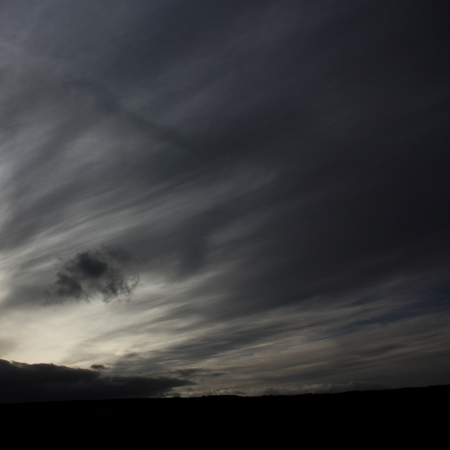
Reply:
M98 371L0 359L0 402L164 397L187 380L101 375Z

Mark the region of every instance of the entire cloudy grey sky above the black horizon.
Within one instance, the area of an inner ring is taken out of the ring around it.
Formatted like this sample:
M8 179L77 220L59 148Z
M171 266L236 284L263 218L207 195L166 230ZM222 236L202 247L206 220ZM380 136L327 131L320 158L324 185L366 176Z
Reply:
M0 401L450 383L445 2L0 3Z

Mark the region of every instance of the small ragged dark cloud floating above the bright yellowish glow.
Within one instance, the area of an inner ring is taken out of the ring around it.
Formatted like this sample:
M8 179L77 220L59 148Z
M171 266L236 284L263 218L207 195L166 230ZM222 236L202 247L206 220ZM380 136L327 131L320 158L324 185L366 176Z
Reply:
M129 262L126 252L114 248L79 252L61 264L57 280L48 291L49 301L89 300L96 296L103 297L104 302L129 299L139 281L135 274L122 274Z

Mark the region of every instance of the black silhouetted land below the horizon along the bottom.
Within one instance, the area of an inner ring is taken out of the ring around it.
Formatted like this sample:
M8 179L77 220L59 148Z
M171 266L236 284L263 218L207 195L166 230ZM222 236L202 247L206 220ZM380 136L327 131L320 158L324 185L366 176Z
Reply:
M0 418L3 430L20 426L30 433L57 432L64 439L86 437L105 445L125 437L131 439L129 446L136 446L133 439L157 439L158 446L196 439L203 442L200 447L238 439L284 448L292 439L296 446L314 439L316 444L411 442L435 448L448 434L449 400L450 385L444 385L296 396L0 404ZM150 440L146 446L153 444Z

